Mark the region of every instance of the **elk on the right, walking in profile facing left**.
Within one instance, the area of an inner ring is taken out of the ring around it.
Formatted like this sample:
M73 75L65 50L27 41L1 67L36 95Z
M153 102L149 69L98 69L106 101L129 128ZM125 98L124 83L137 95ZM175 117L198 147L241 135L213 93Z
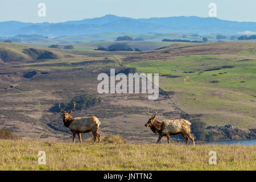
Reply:
M156 143L159 143L163 136L167 137L168 143L171 142L170 135L181 134L186 140L186 144L188 145L189 138L192 140L193 145L195 146L195 140L191 135L190 125L191 123L185 119L173 119L173 120L163 120L163 122L159 122L155 119L158 110L155 111L155 115L150 117L149 110L146 111L148 115L148 122L146 123L146 127L150 127L150 129L154 133L159 134L159 138Z

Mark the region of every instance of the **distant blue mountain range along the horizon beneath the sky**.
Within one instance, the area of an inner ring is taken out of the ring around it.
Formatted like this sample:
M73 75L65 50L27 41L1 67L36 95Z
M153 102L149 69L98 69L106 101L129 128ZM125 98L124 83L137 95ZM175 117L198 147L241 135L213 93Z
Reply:
M39 34L56 37L63 35L85 35L102 32L126 31L137 33L184 32L195 34L238 34L256 32L256 22L234 22L218 18L198 16L174 16L167 18L133 19L115 15L100 18L68 21L63 23L0 22L0 36Z

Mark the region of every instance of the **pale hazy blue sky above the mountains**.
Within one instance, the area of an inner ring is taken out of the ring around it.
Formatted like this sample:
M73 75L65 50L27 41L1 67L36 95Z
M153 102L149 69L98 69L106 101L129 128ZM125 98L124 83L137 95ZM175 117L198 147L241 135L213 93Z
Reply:
M46 17L38 16L38 4L46 3ZM256 22L255 0L1 0L0 22L65 22L106 14L131 18L208 16L216 3L217 18Z

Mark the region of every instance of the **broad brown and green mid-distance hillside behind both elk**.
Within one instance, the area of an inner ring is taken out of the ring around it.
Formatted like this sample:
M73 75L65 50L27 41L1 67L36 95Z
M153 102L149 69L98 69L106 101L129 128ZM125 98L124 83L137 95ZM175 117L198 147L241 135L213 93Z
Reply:
M213 140L254 138L249 133L255 130L249 129L255 129L256 122L255 47L255 43L175 43L154 51L110 52L0 43L0 48L29 60L1 65L0 127L23 138L69 139L61 113L52 111L52 107L60 100L68 103L73 97L92 94L102 98L101 105L75 110L72 116L96 115L103 136L117 134L151 143L157 136L144 127L145 111L159 109L160 121L186 118L201 119L207 126L233 125L232 131L207 130L215 132ZM58 58L38 59L34 53L41 51L52 52ZM148 100L147 94L98 94L98 74L126 67L160 74L164 91L158 100ZM90 136L84 134L85 138ZM173 138L183 141L181 137Z

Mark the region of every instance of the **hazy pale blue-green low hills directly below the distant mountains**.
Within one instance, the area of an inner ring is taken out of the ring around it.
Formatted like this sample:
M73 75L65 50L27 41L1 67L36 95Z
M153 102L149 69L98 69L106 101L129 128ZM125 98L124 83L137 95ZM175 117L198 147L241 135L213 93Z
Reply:
M191 41L203 41L203 38L207 38L208 42L230 42L237 41L239 35L225 35L225 39L217 39L216 36L219 34L191 34L191 33L137 33L137 32L124 32L124 31L114 31L114 32L103 32L98 34L86 34L86 35L64 35L56 38L44 38L29 36L19 38L20 43L26 44L78 44L83 42L111 42L114 41L118 36L130 36L133 39L143 38L147 41L162 41L163 39L183 39ZM221 34L224 35L224 34ZM239 40L241 42L255 42L255 40Z

